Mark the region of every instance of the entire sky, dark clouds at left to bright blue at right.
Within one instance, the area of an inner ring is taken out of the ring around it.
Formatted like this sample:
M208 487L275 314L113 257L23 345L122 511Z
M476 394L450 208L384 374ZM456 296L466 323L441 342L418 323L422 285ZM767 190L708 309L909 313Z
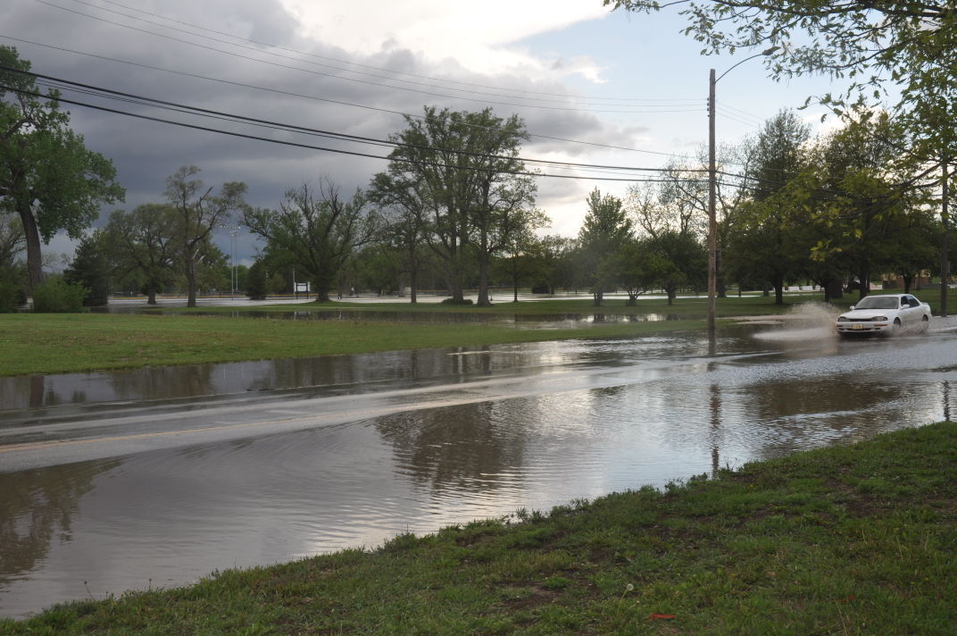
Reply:
M601 0L5 0L0 44L36 73L283 124L385 139L424 105L518 114L532 135L521 155L631 168L694 157L707 142L708 70L757 51L701 56L675 11L610 11ZM719 146L755 134L782 108L833 87L828 79L768 79L761 58L717 84ZM377 156L389 148L200 119L62 91L63 97L310 146ZM164 181L193 165L209 186L243 181L247 201L278 207L283 193L328 178L348 194L386 170L382 159L294 148L66 106L87 148L111 159L126 189L117 208L163 200ZM820 106L798 111L820 125ZM825 124L825 126L828 124ZM613 147L613 148L612 148ZM568 176L607 171L545 169ZM622 181L539 177L543 232L574 236L594 188ZM250 264L261 247L244 228L216 240ZM44 248L72 254L60 234Z

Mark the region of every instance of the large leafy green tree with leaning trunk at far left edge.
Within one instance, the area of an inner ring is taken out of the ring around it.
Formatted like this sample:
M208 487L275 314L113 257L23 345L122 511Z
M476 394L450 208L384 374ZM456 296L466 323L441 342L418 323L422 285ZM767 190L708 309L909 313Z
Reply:
M30 62L0 46L0 214L17 215L31 287L43 280L40 241L59 230L80 238L100 204L123 198L113 164L70 129L58 94L40 94Z

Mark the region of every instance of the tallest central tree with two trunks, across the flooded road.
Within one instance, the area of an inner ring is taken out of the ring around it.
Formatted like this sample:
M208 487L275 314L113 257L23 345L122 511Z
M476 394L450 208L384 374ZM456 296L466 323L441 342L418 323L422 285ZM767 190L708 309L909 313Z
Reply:
M479 267L479 305L488 304L488 266L512 232L535 227L543 216L531 210L535 184L518 157L527 138L518 116L501 119L480 112L425 108L420 119L390 140L389 190L414 197L424 237L446 263L454 302L462 302L467 260ZM385 183L380 185L386 185Z

